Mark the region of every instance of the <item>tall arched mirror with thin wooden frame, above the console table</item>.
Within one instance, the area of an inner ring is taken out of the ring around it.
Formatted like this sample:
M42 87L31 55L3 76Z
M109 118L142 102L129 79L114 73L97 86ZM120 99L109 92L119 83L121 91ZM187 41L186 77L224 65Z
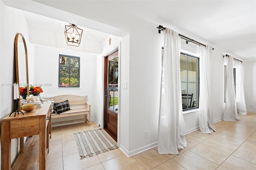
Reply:
M16 82L20 87L27 87L27 96L29 96L28 86L28 53L24 36L17 33L14 41L15 61L16 61ZM20 110L20 101L19 101Z

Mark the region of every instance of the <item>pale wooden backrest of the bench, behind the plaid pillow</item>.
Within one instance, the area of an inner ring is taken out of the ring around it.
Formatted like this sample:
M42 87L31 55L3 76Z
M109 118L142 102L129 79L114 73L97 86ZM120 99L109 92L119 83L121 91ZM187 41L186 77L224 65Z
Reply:
M85 105L86 108L87 108L87 103L86 103L87 102L87 96L76 96L76 95L67 94L67 95L60 95L60 96L54 96L54 97L45 97L44 99L46 99L46 100L54 99L54 101L56 103L68 100L70 106L72 106L72 105Z

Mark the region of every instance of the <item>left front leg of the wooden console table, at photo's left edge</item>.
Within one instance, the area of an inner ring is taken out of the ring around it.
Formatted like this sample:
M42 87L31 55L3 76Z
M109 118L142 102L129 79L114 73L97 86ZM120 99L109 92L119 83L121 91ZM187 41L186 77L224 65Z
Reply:
M11 169L10 121L1 123L1 170Z

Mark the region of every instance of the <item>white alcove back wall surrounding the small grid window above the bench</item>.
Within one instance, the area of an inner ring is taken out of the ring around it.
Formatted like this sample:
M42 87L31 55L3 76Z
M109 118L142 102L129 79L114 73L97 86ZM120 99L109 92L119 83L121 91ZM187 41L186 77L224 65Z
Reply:
M101 48L101 47L99 47ZM98 107L94 92L97 91L97 55L88 54L64 48L34 45L34 63L28 61L30 72L29 84L33 86L41 85L43 93L41 97L52 97L61 94L73 94L78 96L88 96L88 102L92 104L91 118L94 118L94 110ZM80 57L80 88L58 88L59 54ZM100 75L99 75L100 76Z

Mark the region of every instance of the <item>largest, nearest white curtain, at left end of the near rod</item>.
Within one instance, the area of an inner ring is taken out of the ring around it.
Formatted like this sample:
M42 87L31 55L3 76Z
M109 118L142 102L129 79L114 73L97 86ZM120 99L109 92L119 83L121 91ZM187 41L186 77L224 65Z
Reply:
M162 58L158 153L178 154L178 150L184 149L187 145L185 130L180 84L180 37L174 30L166 28Z

